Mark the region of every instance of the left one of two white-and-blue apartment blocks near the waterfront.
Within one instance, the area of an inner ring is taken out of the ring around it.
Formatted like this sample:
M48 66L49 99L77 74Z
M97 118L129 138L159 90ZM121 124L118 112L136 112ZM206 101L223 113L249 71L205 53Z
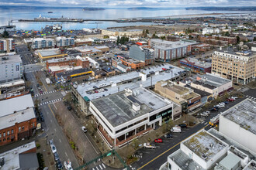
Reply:
M54 39L36 38L32 40L32 49L47 49L55 46Z

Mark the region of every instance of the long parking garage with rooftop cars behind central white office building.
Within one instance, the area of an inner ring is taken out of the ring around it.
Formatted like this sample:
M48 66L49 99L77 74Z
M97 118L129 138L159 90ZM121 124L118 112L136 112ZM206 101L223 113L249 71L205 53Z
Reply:
M71 93L74 100L80 105L81 111L88 114L88 101L90 100L123 91L128 87L135 88L140 87L140 85L145 88L154 87L154 84L160 80L182 80L188 74L187 71L181 68L165 63L164 66L152 66L150 70L123 73L106 77L104 80L72 86ZM104 90L102 91L102 89ZM95 90L99 90L99 93L94 93Z

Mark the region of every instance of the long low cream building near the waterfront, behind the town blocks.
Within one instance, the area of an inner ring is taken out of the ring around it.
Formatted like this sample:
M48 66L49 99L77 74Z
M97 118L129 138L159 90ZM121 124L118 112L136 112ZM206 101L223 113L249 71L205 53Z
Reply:
M142 29L101 29L103 36L142 36Z

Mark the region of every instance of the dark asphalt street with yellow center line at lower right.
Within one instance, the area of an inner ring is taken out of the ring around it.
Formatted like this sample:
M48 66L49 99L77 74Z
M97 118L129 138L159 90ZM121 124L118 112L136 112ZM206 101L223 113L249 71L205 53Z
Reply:
M235 100L227 104L225 107L221 107L217 112L211 112L209 117L205 117L202 123L195 125L193 128L182 129L182 133L173 133L173 138L162 138L162 144L156 144L156 149L140 148L136 155L140 155L139 161L131 165L135 169L159 169L164 162L167 162L168 155L171 155L173 152L177 151L180 148L180 143L189 138L192 134L195 134L197 131L200 131L202 128L209 130L209 120L212 117L215 117L220 112L223 112L230 107L233 107L235 104L238 104L240 101L244 100L247 97L256 98L256 90L246 90L244 91L244 97ZM139 157L139 156L138 156Z

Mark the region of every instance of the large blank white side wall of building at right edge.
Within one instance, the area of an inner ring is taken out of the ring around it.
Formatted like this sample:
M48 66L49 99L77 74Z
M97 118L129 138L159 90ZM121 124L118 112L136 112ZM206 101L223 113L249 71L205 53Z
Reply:
M256 134L241 128L239 124L230 121L223 117L223 115L220 115L219 131L234 141L237 141L240 145L244 145L244 147L256 152Z

